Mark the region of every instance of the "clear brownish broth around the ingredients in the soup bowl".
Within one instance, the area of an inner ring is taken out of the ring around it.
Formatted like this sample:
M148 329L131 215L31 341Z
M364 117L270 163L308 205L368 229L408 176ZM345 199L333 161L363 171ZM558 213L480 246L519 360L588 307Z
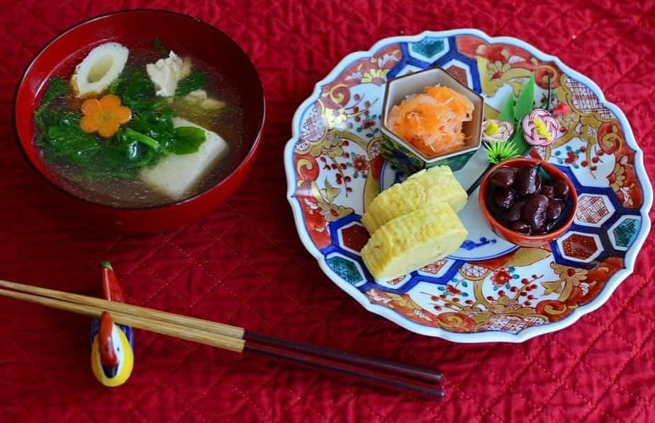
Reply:
M184 57L183 54L181 56ZM154 63L157 59L162 59L163 57L165 55L162 49L158 50L155 47L130 48L128 62L125 64L121 76L135 71L145 73L146 64ZM153 92L150 100L162 100L162 104L158 106L162 110L172 110L175 116L189 120L208 131L215 132L215 134L222 137L228 144L228 152L221 156L211 168L208 168L201 178L198 178L188 190L185 190L182 197L172 198L161 190L148 185L138 178L138 175L108 175L106 177L94 175L89 177L88 173L85 172L84 163L74 163L72 160L53 157L52 154L48 153L47 149L44 148L44 143L40 139L47 137L47 132L50 129L40 127L38 122L35 122L34 142L40 149L44 163L55 177L60 180L62 185L65 185L67 190L89 202L106 206L121 208L157 207L198 195L216 185L236 168L244 153L242 151L244 148L244 134L242 131L244 117L240 95L237 93L235 86L231 85L228 78L220 71L211 69L194 57L189 57L189 59L193 71L203 73L206 76L206 83L202 89L206 91L207 98L218 100L219 102L225 103L225 105L220 107L220 110L216 112L198 112L201 109L185 103L183 95L163 99L160 96L156 96ZM77 64L79 60L72 60L72 62L74 62L72 66L71 64L64 64L59 70L55 71L55 74L60 75L66 82L71 78L71 73L62 73L61 70L74 69L74 64ZM93 72L89 73L89 81L91 79L97 80L101 77L101 75L98 75L99 72L97 69L94 70L96 71L95 74ZM98 98L101 98L103 94L105 93L100 93ZM47 110L52 113L73 112L79 114L83 101L84 99L78 98L74 92L69 92L67 95L52 100L47 106ZM134 118L138 112L133 110L132 113ZM38 121L38 119L35 119L35 121ZM124 126L129 127L130 122L127 122ZM123 128L123 125L121 125L121 128ZM109 145L111 145L113 142L112 138L103 139L99 134L94 134L94 139L96 143L110 143ZM135 149L138 150L137 153L140 154L146 154L144 151L147 148L147 146L140 144L135 146ZM86 163L86 166L97 166L101 164L97 161L103 160L105 160L103 156L96 156L93 158L94 162L90 164ZM149 166L157 166L156 163Z

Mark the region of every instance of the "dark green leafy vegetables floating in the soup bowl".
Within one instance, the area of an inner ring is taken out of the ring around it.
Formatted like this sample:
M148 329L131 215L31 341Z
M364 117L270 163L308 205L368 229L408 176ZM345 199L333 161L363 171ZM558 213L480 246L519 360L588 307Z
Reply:
M180 81L179 95L203 88L206 78L201 72L187 76ZM170 108L170 98L157 97L145 71L124 71L108 87L109 93L118 95L132 110L132 119L109 139L82 131L81 113L53 105L68 92L63 79L50 81L35 112L40 128L36 142L47 161L72 165L87 180L135 178L142 168L155 166L161 158L194 153L206 141L203 129L173 126L177 114Z

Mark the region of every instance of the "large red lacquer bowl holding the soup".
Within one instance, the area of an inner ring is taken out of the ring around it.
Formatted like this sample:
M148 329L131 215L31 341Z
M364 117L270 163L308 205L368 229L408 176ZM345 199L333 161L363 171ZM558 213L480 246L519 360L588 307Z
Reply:
M156 25L155 25L156 24ZM189 54L215 67L232 81L240 95L245 127L244 146L232 172L194 197L150 208L108 207L69 192L41 161L33 143L34 110L51 76L69 75L73 66L94 45L117 41L132 47L151 46L158 37L170 49ZM75 60L72 60L75 58ZM65 67L62 67L62 63ZM128 233L153 233L182 226L208 214L225 201L245 180L259 146L264 124L264 90L247 54L225 33L191 16L169 11L133 10L93 18L70 28L48 43L30 63L16 91L14 123L18 145L30 165L57 188L62 204L90 217L98 228L118 228Z

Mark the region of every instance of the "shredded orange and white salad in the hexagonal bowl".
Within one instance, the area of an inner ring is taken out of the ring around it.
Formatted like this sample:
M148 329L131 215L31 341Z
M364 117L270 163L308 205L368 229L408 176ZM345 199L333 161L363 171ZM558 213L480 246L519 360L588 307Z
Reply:
M432 157L465 145L462 124L471 120L474 105L445 86L427 86L408 95L389 112L387 125L398 137Z

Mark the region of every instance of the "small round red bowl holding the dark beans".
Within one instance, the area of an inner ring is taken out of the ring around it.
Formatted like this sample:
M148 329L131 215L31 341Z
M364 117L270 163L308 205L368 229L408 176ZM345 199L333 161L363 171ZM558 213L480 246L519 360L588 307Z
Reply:
M552 180L565 180L569 185L569 200L572 202L573 207L569 212L569 216L566 218L566 221L562 224L561 227L557 228L555 231L549 233L542 233L539 235L526 235L525 233L511 231L508 228L505 228L495 217L491 214L487 207L486 197L489 189L489 176L500 168L507 167L522 167L522 166L534 166L540 165L542 169L546 171L552 178ZM496 235L504 238L510 243L520 245L522 247L540 247L544 244L554 241L557 238L561 237L569 230L571 224L573 223L573 217L576 215L576 209L578 207L578 193L576 192L576 187L573 185L573 182L556 166L553 166L551 163L546 161L539 160L538 158L512 158L508 161L503 161L496 166L493 166L491 170L484 175L482 182L480 183L480 191L478 192L478 200L480 202L480 208L482 209L482 214L487 219L487 223L491 227L491 230L496 233Z

